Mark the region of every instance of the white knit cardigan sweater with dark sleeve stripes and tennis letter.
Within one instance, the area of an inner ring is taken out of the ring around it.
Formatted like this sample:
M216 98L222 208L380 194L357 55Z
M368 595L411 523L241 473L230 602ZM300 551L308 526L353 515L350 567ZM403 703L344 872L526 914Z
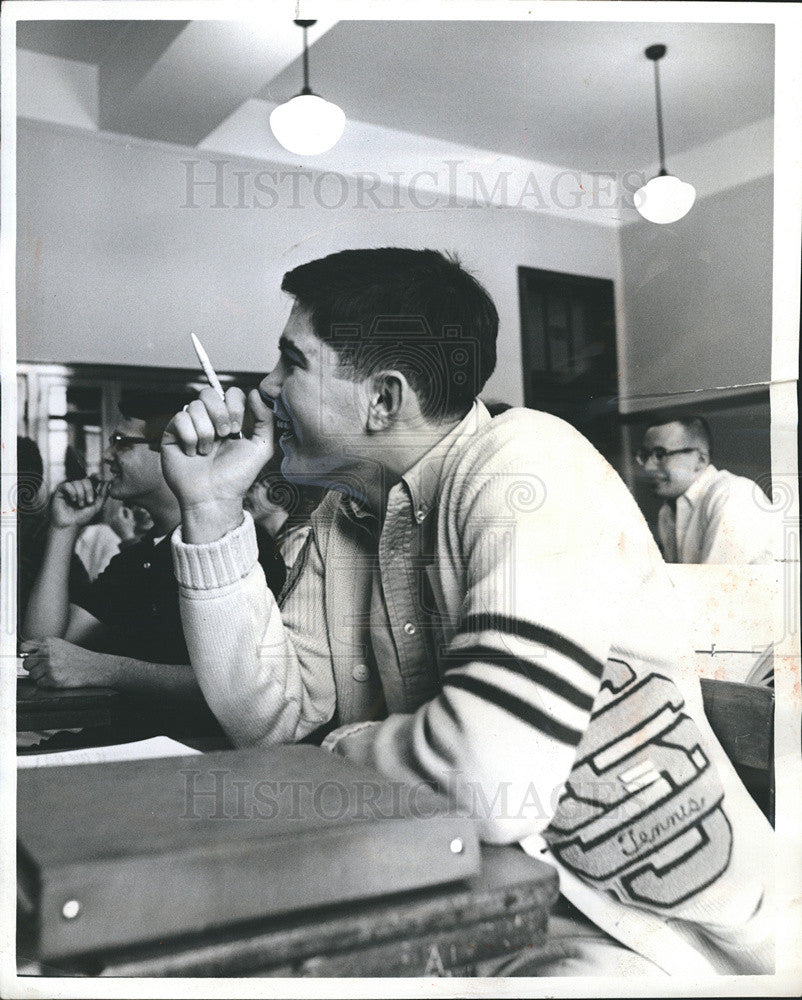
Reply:
M395 608L426 531L436 610L394 621L398 656L376 658L377 585ZM771 829L704 717L640 511L568 424L477 403L391 491L378 543L330 494L281 611L247 515L173 549L192 665L235 743L333 719L324 746L435 784L666 971L771 971Z

